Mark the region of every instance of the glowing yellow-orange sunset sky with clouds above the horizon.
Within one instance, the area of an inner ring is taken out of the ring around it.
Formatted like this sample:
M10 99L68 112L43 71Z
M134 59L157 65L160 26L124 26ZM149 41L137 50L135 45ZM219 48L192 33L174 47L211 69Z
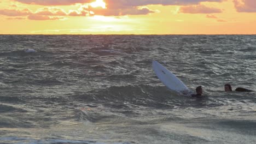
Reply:
M0 0L0 34L256 34L255 0Z

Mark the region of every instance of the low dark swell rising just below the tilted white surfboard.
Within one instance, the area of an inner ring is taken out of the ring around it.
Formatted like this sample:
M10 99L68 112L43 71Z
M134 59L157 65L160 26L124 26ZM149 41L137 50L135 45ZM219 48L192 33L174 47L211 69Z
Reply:
M110 103L107 106L112 108L133 105L155 107L157 109L173 109L174 107L212 107L222 105L219 101L214 101L207 97L201 101L208 101L208 103L206 105L200 105L200 100L184 97L183 95L169 91L166 87L150 85L112 86L90 91L86 94L74 95L73 98L103 105Z

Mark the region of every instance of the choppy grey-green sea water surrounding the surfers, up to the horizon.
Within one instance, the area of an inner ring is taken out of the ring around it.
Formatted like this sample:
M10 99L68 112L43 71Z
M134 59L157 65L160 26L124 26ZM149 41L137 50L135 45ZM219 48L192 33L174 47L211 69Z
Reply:
M256 92L224 92L256 90L256 35L0 35L0 50L0 143L256 143ZM168 91L153 59L205 98Z

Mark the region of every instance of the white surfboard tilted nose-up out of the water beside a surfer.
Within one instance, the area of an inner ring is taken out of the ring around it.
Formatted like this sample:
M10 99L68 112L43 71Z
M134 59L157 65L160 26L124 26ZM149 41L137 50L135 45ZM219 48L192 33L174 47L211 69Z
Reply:
M178 79L178 77L172 74L171 71L166 69L160 63L153 61L153 70L160 81L172 91L179 93L189 91L188 87L185 86L184 83Z

